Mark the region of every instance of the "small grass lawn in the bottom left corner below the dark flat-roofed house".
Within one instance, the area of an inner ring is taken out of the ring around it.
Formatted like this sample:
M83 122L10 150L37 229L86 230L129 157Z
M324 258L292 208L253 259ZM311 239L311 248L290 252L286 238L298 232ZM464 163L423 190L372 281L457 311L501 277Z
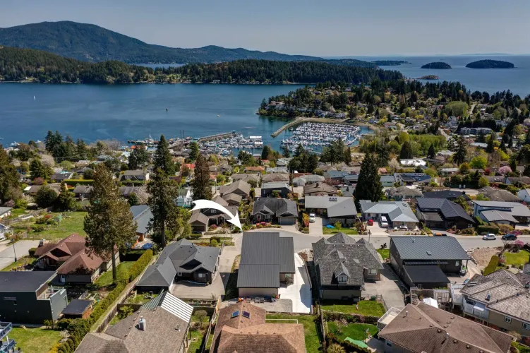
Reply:
M13 328L8 336L24 353L48 352L61 339L60 331L46 328Z

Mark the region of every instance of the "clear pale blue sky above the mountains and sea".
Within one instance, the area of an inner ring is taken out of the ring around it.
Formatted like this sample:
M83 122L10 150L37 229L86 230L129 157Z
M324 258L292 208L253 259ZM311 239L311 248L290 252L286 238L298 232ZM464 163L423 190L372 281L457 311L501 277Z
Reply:
M314 56L530 54L528 0L2 0L0 27L72 20L168 47Z

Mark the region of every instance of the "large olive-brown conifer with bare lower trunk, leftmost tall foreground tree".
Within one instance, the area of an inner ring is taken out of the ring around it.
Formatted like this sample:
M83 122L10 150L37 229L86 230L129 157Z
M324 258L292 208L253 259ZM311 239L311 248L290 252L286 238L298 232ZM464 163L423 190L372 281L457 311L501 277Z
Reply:
M116 250L124 251L134 244L137 226L129 204L121 197L112 173L104 164L97 164L93 185L83 229L87 245L94 253L111 256L112 280L116 282Z

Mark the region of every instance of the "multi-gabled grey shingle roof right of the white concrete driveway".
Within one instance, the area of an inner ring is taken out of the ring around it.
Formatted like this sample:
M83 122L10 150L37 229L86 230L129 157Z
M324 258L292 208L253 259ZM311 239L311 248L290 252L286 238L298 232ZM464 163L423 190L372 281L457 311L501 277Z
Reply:
M363 238L354 238L340 232L330 238L313 243L313 261L318 273L318 282L337 285L337 277L348 276L346 285L364 285L363 269L383 269L377 251Z

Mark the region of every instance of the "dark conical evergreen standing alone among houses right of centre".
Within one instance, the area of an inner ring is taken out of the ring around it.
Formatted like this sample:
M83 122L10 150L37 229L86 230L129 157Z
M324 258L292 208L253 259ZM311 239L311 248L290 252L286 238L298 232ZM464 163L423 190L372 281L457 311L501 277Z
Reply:
M378 166L375 164L373 154L367 153L361 164L359 172L359 181L354 191L355 204L360 209L359 201L370 200L373 202L380 201L383 196L383 185L378 175Z

